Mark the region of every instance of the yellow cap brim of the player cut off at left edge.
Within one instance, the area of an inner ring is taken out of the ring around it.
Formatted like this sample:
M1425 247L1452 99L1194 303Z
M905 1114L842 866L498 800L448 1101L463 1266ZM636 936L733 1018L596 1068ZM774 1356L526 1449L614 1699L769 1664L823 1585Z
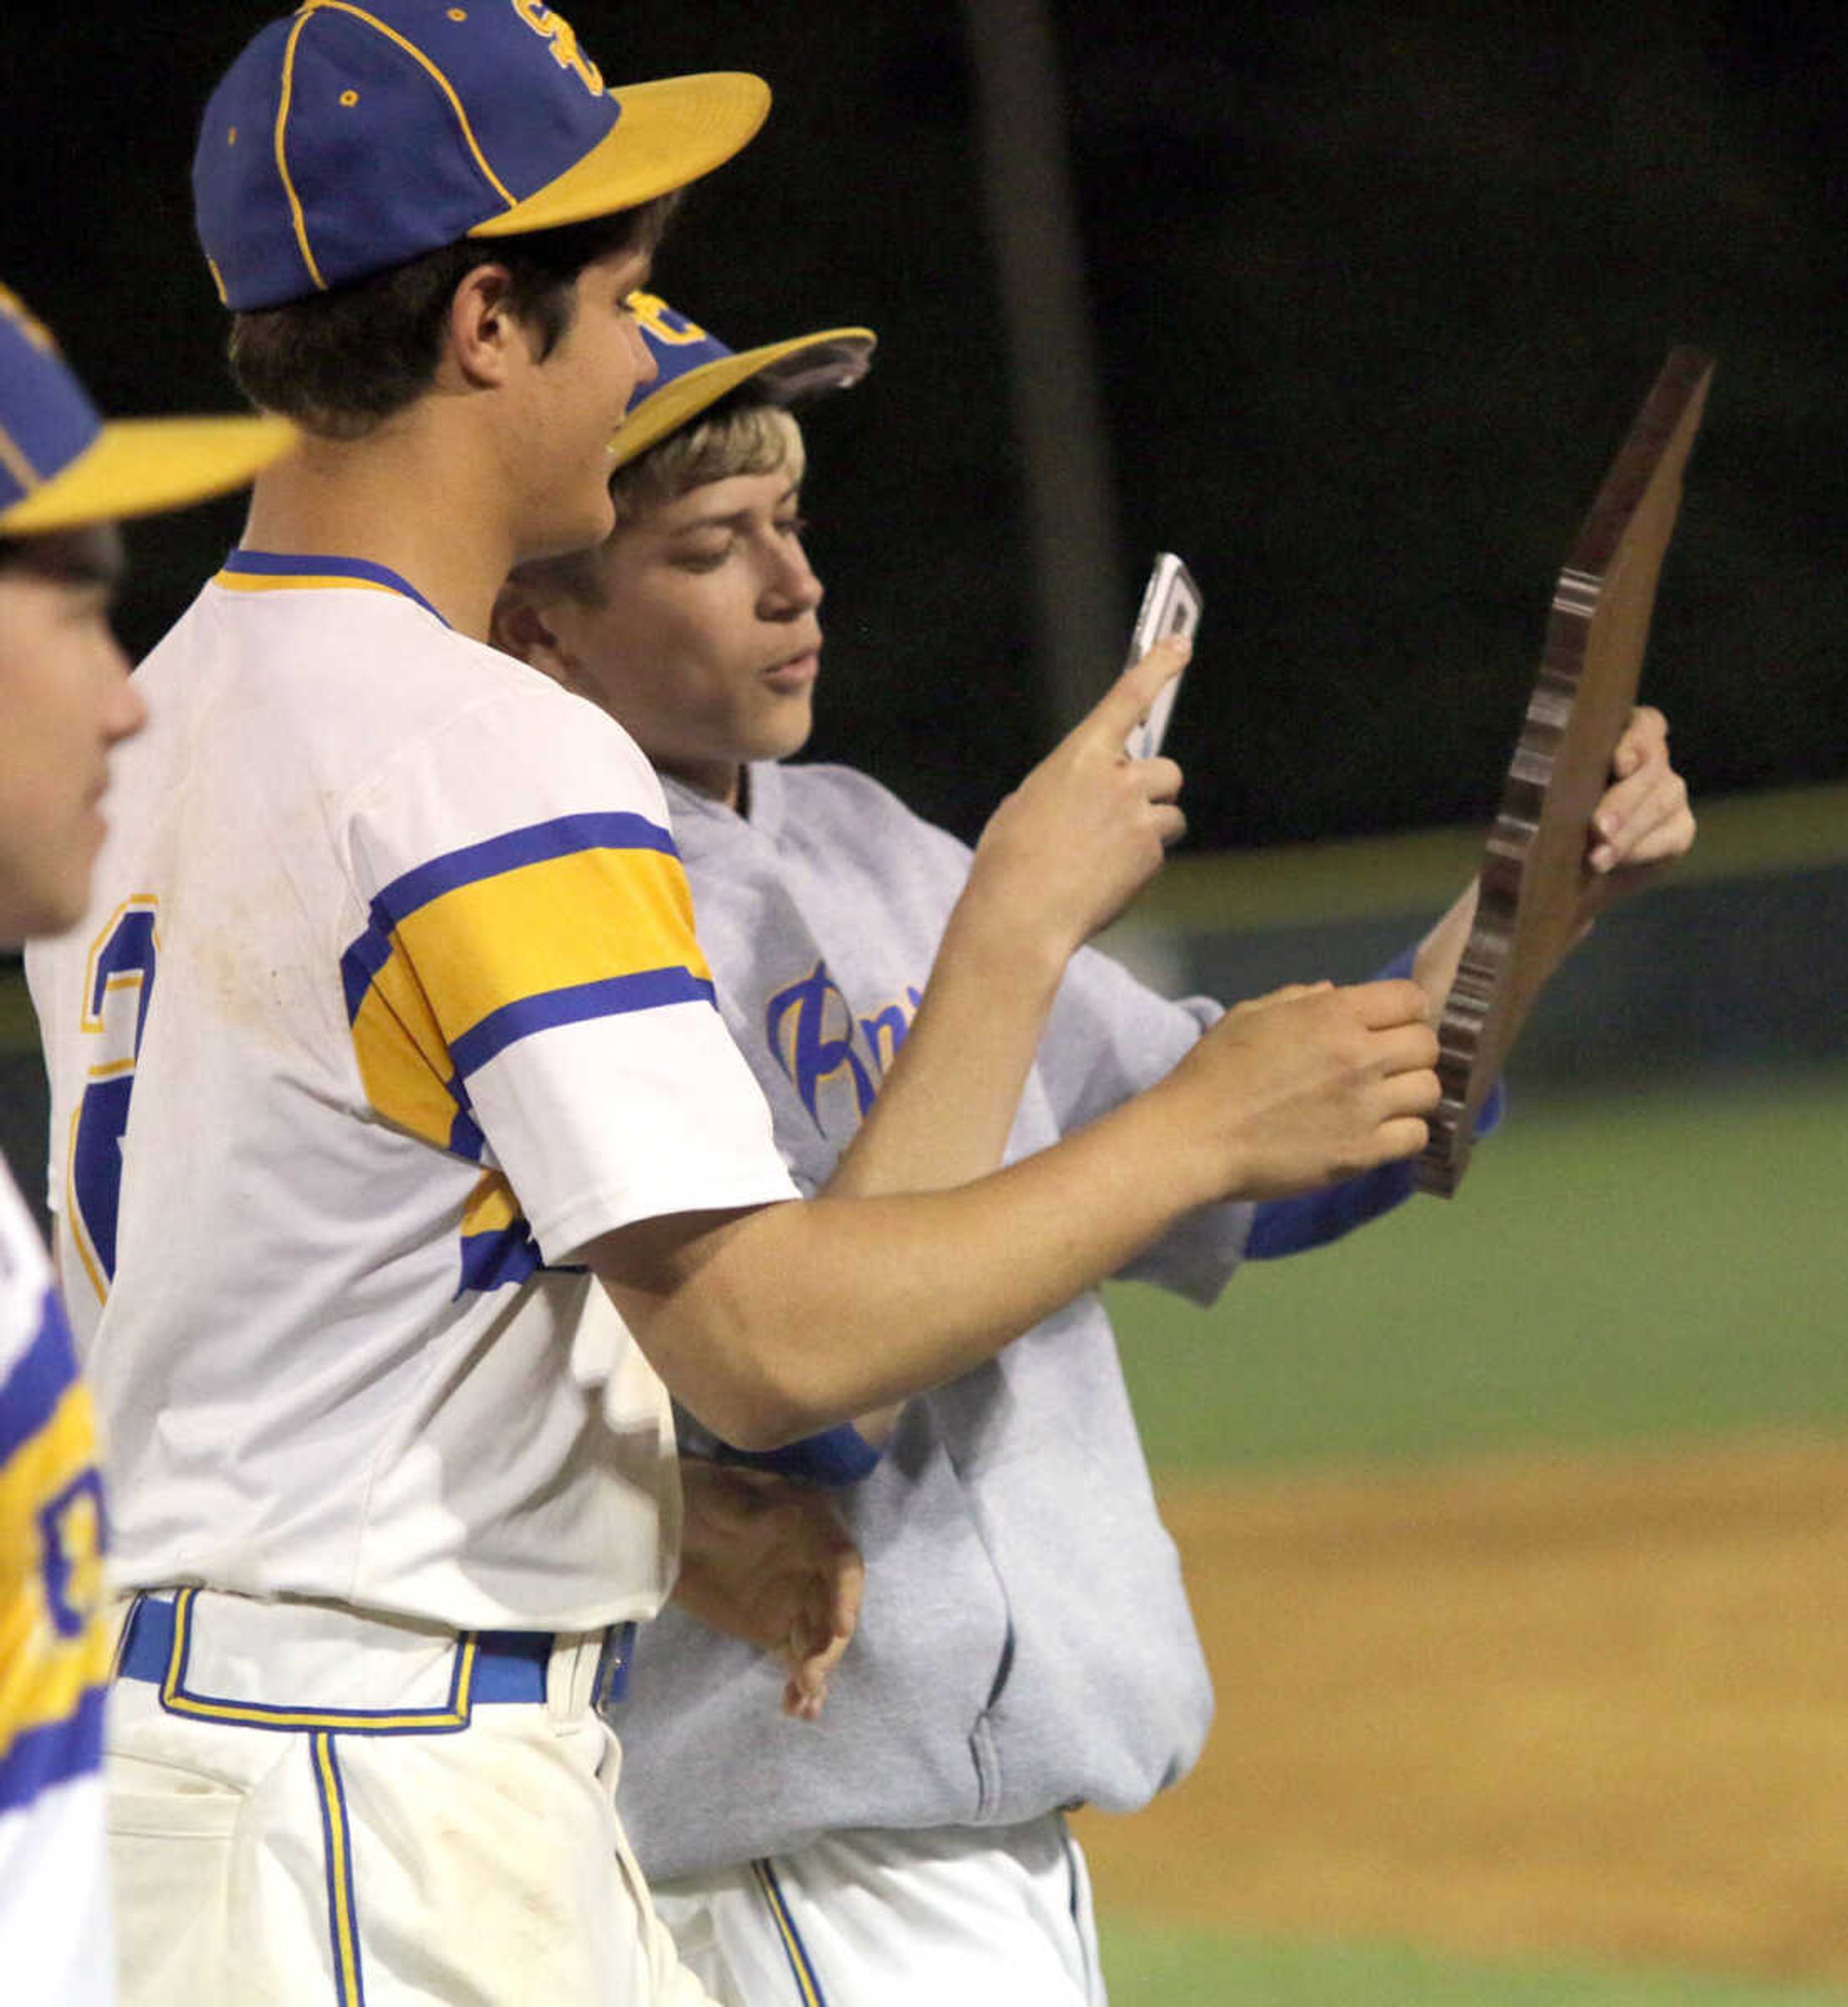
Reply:
M0 534L40 536L148 516L243 488L281 460L287 417L120 417L32 494L0 514Z

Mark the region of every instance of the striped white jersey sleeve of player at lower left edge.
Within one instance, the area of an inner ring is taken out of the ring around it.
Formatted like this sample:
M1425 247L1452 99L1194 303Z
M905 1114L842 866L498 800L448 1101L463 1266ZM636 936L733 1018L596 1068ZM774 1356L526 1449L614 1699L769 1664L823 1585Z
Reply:
M102 1487L90 1395L0 1162L0 1973L114 1999L102 1858Z

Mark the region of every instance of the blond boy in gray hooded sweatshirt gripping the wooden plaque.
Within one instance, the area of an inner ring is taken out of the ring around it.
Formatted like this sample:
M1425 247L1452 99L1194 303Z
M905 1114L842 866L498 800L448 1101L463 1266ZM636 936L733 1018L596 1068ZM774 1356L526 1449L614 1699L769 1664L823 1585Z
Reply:
M851 381L869 337L835 329L732 355L658 299L638 311L658 375L616 442L616 532L518 572L496 632L620 719L668 777L726 1024L797 1182L825 1192L855 1176L843 1152L875 1110L891 1118L891 1068L901 1050L917 1058L913 1026L971 871L969 851L865 775L779 765L809 737L823 596L803 550L803 434L779 405ZM1637 714L1615 765L1589 837L1593 903L1693 835L1655 712ZM1433 1014L1471 913L1473 891L1405 957ZM1009 1154L1146 1090L1216 1016L1080 953ZM935 1098L887 1128L887 1162L921 1184L983 1168L949 1154L963 1060L939 1050ZM1134 1272L1210 1301L1242 1256L1322 1244L1409 1188L1395 1164L1306 1198L1212 1206ZM664 1612L622 1710L624 1818L682 1955L732 2007L1100 2003L1061 1808L1146 1802L1188 1770L1210 1716L1102 1303L1080 1295L993 1363L907 1403L879 1455L885 1421L785 1459L857 1479L839 1493L867 1555L851 1650L835 1666L839 1654L702 1596L694 1616L768 1648L758 1658ZM694 1443L716 1449L698 1431ZM694 1501L742 1481L690 1469ZM785 1501L797 1531L801 1497ZM688 1555L716 1567L724 1541L726 1527L696 1517ZM768 1718L789 1676L785 1708L815 1714L831 1668L817 1732ZM734 1772L748 1790L728 1786Z

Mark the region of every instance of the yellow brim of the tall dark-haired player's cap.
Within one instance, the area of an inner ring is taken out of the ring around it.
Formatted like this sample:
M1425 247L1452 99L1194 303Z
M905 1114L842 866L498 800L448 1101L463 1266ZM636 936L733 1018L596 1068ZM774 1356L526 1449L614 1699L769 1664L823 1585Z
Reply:
M730 161L771 110L771 86L742 70L624 84L610 96L622 116L596 147L526 201L478 223L470 237L550 231L652 203Z

